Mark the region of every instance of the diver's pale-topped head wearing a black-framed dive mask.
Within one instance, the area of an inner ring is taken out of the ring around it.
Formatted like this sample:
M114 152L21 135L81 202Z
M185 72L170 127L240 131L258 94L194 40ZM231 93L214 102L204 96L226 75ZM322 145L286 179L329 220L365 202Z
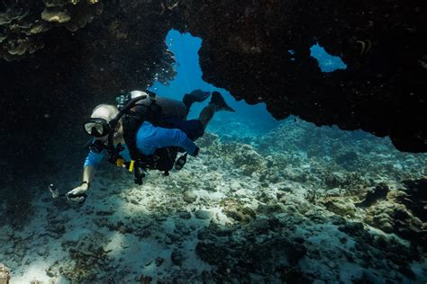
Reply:
M113 104L99 104L95 107L90 119L83 124L86 134L97 139L106 139L111 129L111 122L119 114L119 110ZM114 131L122 131L122 125L117 122Z

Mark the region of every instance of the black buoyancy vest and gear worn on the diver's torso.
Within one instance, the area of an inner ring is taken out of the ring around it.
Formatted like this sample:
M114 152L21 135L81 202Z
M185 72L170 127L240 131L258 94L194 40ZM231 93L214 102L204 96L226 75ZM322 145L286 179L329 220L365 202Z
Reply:
M145 176L143 172L147 170L159 170L168 175L168 171L173 168L177 160L177 153L184 152L184 149L167 146L156 149L153 155L143 155L136 146L138 130L144 121L162 128L173 128L169 120L185 120L186 106L183 102L159 97L155 93L133 91L132 97L114 120L116 120L115 123L120 119L123 121L123 138L132 158L135 182L142 184L142 178ZM117 149L115 152L117 153ZM117 156L116 154L116 157L111 158L110 161L116 163L114 160L117 160Z

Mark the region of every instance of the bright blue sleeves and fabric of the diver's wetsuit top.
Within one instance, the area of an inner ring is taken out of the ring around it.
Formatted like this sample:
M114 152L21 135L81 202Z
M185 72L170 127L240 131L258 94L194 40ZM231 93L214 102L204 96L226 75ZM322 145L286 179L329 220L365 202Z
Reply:
M129 154L129 148L126 145L124 150L120 152L123 159L131 161L131 155ZM164 129L152 125L148 121L144 121L141 128L138 130L136 135L136 147L143 155L153 155L157 148L165 146L179 146L186 150L189 155L195 153L195 143L187 137L186 133L180 129ZM106 150L99 154L92 151L86 156L84 167L91 165L96 167L104 155Z

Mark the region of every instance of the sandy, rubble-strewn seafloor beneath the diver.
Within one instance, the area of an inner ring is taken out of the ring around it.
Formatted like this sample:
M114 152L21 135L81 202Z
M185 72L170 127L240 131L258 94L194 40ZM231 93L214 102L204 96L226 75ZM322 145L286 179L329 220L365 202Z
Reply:
M425 283L425 223L399 196L426 155L301 120L224 125L142 186L104 163L81 208L39 188L28 225L0 230L10 283Z

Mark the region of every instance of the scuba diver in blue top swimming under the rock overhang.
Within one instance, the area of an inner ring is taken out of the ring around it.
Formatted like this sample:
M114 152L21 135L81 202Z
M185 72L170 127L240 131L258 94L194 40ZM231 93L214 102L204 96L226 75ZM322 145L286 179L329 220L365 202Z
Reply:
M82 204L95 175L95 169L105 155L112 164L134 173L134 182L142 184L147 170L159 170L168 175L174 165L180 170L186 156L197 156L195 140L204 135L204 129L216 111L234 110L223 100L221 93L213 92L211 101L200 112L197 120L186 120L194 102L204 102L210 92L195 90L179 102L159 97L150 91L132 91L116 98L117 106L100 104L83 124L90 140L83 179L79 186L68 191L68 200ZM179 158L177 154L184 153Z

